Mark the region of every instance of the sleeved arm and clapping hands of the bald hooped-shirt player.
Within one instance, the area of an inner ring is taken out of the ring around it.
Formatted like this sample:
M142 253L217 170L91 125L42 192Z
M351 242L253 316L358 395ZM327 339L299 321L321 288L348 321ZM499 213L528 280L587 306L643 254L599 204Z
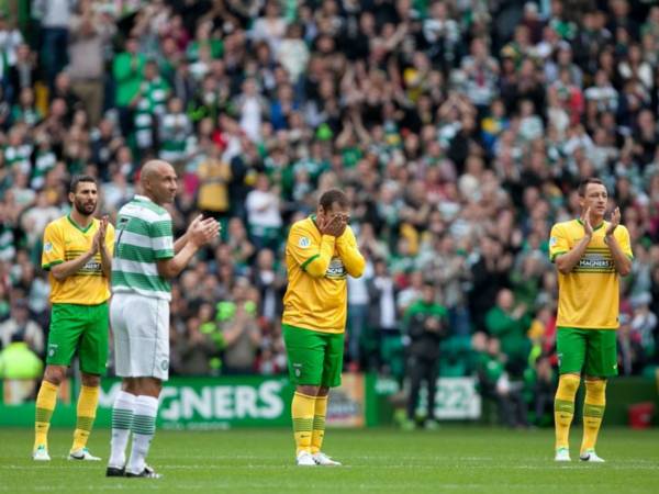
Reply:
M171 228L171 223L170 223ZM210 243L220 233L220 223L214 218L193 221L188 228L186 245L175 252L171 234L154 238L158 274L163 278L175 278L188 266L199 248Z

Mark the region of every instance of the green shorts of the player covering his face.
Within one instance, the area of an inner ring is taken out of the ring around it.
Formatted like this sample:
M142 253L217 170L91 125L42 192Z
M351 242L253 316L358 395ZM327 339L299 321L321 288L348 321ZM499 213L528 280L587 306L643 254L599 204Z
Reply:
M344 333L321 333L282 324L288 367L294 385L340 385Z

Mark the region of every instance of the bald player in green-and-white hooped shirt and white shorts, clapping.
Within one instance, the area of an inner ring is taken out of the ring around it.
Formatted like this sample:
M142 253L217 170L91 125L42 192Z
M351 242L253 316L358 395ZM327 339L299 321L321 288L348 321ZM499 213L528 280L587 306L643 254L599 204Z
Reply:
M108 476L157 479L146 464L155 434L158 396L169 377L169 279L178 276L204 244L220 233L213 218L197 216L176 242L164 207L178 190L166 161L152 160L141 172L143 194L124 205L116 220L110 319L116 374L123 378L112 409ZM126 446L132 433L131 456Z

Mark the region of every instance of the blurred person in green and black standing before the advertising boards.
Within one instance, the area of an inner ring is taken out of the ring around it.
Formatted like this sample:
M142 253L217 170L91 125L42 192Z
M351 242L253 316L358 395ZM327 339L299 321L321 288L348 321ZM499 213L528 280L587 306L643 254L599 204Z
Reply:
M403 317L403 334L410 338L407 349L407 375L410 398L407 400L407 428L414 428L414 415L418 403L422 381L428 390L426 427L435 422L435 392L439 362L439 344L448 334L447 311L436 302L435 285L425 281L421 299L414 302Z

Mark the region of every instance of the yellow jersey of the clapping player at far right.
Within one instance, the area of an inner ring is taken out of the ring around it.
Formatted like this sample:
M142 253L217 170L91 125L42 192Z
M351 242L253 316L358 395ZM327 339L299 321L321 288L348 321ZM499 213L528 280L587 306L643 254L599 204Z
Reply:
M604 243L610 223L593 228L593 236L583 257L567 274L558 273L559 327L616 329L619 311L619 278L613 263L611 250ZM549 256L570 251L583 238L580 220L557 223L551 228ZM633 258L629 232L619 225L614 237L623 252Z

